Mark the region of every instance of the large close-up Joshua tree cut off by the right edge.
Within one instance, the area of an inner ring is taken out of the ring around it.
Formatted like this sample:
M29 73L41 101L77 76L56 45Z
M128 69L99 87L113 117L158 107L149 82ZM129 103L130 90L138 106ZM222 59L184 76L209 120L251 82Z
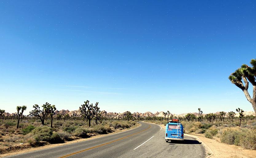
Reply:
M242 64L241 68L238 68L234 73L229 76L229 80L231 81L231 83L235 84L244 92L246 99L252 104L254 112L256 113L256 59L252 59L250 61L250 64L252 65L252 67L246 64ZM242 80L244 83L242 82ZM252 97L248 92L248 81L253 86Z

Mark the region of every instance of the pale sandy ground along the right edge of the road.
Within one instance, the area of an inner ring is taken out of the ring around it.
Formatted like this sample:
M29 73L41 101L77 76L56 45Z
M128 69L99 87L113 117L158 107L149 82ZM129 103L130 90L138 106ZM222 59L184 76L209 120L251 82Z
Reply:
M165 129L164 125L161 125L163 129ZM188 136L190 134L187 134ZM236 145L229 145L219 142L219 138L206 138L204 134L191 134L192 137L196 136L199 138L199 141L202 142L202 144L206 145L210 148L210 150L213 152L213 155L211 158L255 158L256 157L256 151L255 150L248 150L248 149L242 149L240 146ZM206 147L206 149L207 149ZM208 151L210 152L210 151Z

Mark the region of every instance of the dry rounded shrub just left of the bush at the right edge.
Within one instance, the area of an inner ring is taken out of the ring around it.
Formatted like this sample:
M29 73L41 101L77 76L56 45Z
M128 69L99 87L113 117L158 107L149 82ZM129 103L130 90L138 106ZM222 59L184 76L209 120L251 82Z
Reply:
M226 128L223 129L220 141L226 144L239 144L240 129L237 128Z

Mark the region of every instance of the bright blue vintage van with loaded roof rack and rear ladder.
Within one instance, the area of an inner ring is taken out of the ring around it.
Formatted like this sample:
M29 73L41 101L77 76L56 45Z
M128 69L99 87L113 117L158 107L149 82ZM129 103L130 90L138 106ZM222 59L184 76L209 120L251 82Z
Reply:
M165 126L165 141L184 140L183 126L179 119L172 119Z

